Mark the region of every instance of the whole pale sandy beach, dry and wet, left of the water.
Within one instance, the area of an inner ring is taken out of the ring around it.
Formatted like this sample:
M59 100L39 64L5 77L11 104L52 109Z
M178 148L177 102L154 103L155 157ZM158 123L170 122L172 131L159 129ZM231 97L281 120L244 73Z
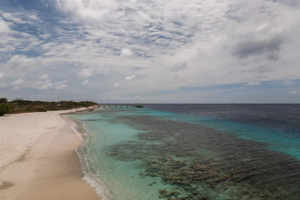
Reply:
M0 199L100 199L82 180L80 138L60 115L84 109L0 117Z

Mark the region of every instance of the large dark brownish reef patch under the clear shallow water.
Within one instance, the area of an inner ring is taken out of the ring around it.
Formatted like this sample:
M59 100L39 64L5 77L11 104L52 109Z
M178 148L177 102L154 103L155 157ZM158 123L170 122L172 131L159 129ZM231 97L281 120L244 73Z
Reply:
M136 140L111 145L107 154L117 160L140 160L140 177L160 177L173 186L157 191L159 198L299 199L299 160L269 150L264 143L151 115L121 115L113 123L141 132Z

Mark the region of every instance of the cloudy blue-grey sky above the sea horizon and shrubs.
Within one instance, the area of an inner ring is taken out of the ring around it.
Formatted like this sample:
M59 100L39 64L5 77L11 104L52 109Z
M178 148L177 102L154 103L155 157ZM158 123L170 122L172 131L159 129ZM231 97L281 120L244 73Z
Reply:
M4 96L300 103L300 1L1 0Z

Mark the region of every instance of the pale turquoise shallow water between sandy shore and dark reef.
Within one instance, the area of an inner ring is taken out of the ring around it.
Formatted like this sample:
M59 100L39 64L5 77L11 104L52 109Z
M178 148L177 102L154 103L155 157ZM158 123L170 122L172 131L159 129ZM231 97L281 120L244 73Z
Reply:
M140 161L118 161L107 155L108 146L124 140L135 140L139 130L110 122L113 116L104 119L98 114L75 114L70 115L70 119L79 126L83 121L84 131L88 131L87 141L84 147L79 148L78 154L84 159L84 163L81 163L84 172L90 175L88 181L100 183L94 183L93 186L103 199L158 199L157 190L171 188L157 177L140 178L138 174L143 172L139 169Z

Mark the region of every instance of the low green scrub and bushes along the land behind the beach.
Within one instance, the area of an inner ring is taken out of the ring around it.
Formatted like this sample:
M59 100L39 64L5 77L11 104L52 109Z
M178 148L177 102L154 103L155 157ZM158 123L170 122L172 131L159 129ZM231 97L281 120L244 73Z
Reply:
M48 102L48 101L31 101L24 100L22 98L16 97L12 99L10 102L7 101L6 98L0 98L0 109L4 110L6 105L9 107L9 111L5 108L5 113L23 113L23 112L46 112L50 110L65 110L72 109L77 107L89 107L93 105L97 105L96 102L92 101L60 101L60 102ZM3 108L1 108L3 107ZM2 112L0 112L1 115ZM3 113L3 114L5 114ZM2 115L3 115L2 114Z

